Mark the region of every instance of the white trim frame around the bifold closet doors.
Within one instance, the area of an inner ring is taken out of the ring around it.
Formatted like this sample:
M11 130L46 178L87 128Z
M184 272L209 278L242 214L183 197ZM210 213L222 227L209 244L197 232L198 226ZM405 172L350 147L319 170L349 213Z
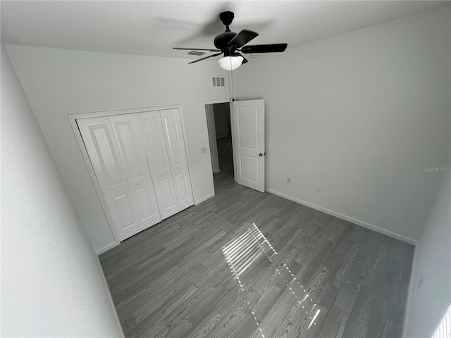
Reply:
M111 217L111 214L109 212L109 208L106 205L106 200L104 197L104 194L101 193L101 187L99 184L99 181L97 180L97 176L94 172L94 168L92 167L91 160L89 159L89 155L87 154L87 150L85 147L85 142L83 142L82 135L80 134L80 130L78 130L77 120L80 118L95 118L99 116L111 116L111 115L123 115L123 114L132 114L132 113L144 113L146 111L163 111L166 109L174 109L178 108L180 111L180 121L182 123L182 132L183 132L183 141L185 142L185 151L187 155L187 163L188 163L188 172L190 173L190 184L192 189L192 197L194 201L196 201L196 192L194 191L194 185L193 185L193 179L192 179L192 165L191 165L191 156L189 151L189 146L187 142L186 137L186 130L185 130L185 120L183 118L183 109L181 104L173 104L168 106L153 106L153 107L142 107L142 108L129 108L129 109L118 109L114 111L95 111L95 112L89 112L89 113L75 113L75 114L68 114L68 119L70 123L70 127L72 127L73 134L75 136L75 139L77 140L78 147L80 148L80 151L82 153L83 160L85 161L87 171L89 172L89 177L91 177L92 184L94 184L94 188L96 190L96 194L99 197L99 201L101 204L101 207L104 211L104 215L106 217L106 222L108 223L111 233L113 234L114 242L116 242L116 245L121 244L121 240L119 239L120 236L118 232L116 231L116 228L113 227L113 218Z

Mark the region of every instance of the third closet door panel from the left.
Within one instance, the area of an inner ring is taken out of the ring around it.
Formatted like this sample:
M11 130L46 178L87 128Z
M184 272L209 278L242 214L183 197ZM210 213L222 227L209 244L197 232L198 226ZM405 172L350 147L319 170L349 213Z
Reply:
M168 151L163 135L159 111L137 114L140 125L144 125L143 139L152 180L154 181L156 199L161 218L168 218L178 213L177 198L173 183Z

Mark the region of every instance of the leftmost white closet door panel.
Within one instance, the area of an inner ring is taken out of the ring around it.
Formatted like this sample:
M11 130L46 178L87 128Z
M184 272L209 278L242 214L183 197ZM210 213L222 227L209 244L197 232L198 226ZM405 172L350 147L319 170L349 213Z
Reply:
M94 173L122 241L141 231L135 204L107 116L77 120Z

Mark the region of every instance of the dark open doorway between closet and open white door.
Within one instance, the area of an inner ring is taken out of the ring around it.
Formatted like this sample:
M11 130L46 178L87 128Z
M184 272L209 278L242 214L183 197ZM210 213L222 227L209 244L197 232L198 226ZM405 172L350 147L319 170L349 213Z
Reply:
M232 123L230 104L206 104L206 121L209 131L211 167L215 190L227 182L234 182Z

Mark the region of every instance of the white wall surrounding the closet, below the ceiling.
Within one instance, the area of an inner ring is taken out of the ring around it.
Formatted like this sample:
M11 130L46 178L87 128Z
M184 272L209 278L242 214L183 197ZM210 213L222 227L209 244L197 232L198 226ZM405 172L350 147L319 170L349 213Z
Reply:
M114 245L68 114L182 104L192 163L194 201L214 194L202 100L228 98L213 88L215 62L6 46L69 194L97 252ZM228 84L226 87L228 88Z

